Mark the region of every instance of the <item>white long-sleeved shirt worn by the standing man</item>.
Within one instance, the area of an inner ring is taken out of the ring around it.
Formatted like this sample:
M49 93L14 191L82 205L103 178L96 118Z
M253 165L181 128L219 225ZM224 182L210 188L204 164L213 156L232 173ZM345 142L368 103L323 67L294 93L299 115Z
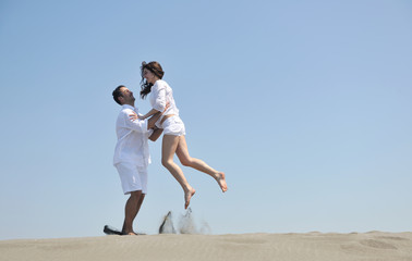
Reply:
M113 164L129 162L138 166L150 164L150 153L148 148L148 137L153 129L147 129L147 120L130 120L130 114L136 108L124 104L116 122L116 134L118 142L114 148Z

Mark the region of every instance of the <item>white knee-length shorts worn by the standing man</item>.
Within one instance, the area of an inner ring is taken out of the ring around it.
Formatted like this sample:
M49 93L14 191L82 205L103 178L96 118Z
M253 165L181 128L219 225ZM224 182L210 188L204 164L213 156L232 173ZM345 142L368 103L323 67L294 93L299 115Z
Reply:
M137 190L147 194L147 167L120 162L116 164L116 169L118 169L124 195Z

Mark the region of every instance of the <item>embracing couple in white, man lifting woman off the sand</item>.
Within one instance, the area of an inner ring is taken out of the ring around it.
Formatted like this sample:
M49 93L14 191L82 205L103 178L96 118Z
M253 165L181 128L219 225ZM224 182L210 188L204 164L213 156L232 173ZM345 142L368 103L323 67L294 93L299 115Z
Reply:
M165 72L160 64L143 62L141 74L141 97L144 99L148 96L153 108L145 115L138 114L133 92L125 86L120 85L112 94L114 101L122 107L116 123L118 142L113 164L119 172L124 195L130 195L125 203L123 235L136 235L133 232L133 221L147 194L147 166L150 163L148 139L156 141L161 133L161 164L183 188L185 209L196 190L173 162L174 153L182 165L210 175L223 192L228 189L223 172L216 171L204 161L189 154L184 124L179 117L172 89L162 80Z

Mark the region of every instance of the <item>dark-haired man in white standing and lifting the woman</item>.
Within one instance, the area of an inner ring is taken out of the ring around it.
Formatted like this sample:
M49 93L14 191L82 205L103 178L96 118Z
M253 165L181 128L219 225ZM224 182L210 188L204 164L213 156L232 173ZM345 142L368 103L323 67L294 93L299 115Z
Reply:
M155 141L161 135L162 129L155 127L161 113L149 120L140 120L132 91L120 85L112 95L114 101L122 105L116 123L118 142L113 164L119 172L124 195L130 195L125 203L122 235L136 235L133 221L147 194L147 166L150 163L147 139Z

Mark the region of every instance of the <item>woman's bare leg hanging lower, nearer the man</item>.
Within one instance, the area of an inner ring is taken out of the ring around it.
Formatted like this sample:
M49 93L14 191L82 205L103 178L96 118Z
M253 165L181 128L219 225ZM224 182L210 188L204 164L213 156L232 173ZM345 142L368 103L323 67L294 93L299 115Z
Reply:
M187 209L192 196L195 194L195 189L189 185L182 170L173 162L173 156L179 145L181 136L163 135L161 145L161 164L168 169L173 177L179 182L184 191L184 208Z

